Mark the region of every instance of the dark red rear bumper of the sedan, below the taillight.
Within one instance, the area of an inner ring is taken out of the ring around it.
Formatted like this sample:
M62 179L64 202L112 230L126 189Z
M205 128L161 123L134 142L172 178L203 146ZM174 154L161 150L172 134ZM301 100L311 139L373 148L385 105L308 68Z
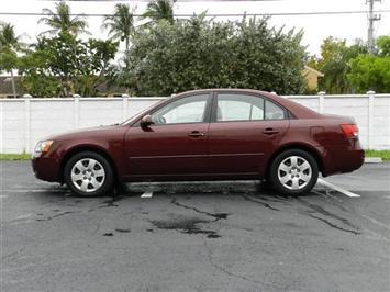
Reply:
M359 169L365 161L365 151L360 148L359 142L354 141L347 147L327 147L324 155L323 176L346 173Z

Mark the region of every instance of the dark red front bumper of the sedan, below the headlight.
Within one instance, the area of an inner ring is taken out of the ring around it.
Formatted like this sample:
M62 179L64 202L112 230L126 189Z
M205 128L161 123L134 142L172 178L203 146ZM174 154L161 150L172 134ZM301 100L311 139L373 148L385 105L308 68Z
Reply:
M62 182L59 159L53 157L33 157L32 167L37 179Z

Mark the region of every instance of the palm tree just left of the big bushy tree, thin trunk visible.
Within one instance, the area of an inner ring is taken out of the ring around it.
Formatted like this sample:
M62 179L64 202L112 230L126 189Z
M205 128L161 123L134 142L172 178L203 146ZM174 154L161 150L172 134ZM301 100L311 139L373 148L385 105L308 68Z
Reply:
M130 7L127 4L116 4L114 14L105 16L102 27L109 30L111 40L125 42L127 54L131 38L135 34L134 16Z

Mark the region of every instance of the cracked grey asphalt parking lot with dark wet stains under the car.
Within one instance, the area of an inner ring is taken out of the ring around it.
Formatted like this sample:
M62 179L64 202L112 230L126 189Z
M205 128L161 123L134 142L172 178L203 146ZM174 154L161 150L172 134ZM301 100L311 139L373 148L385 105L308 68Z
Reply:
M81 199L1 162L1 291L389 291L389 175L298 198L245 181Z

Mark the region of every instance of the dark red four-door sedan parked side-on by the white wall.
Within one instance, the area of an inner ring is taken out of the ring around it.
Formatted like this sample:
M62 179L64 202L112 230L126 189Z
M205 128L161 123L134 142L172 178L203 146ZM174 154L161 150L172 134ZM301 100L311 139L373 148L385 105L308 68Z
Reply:
M116 182L260 179L283 194L310 191L324 177L358 169L355 122L268 92L185 92L119 125L38 142L38 179L102 195Z

